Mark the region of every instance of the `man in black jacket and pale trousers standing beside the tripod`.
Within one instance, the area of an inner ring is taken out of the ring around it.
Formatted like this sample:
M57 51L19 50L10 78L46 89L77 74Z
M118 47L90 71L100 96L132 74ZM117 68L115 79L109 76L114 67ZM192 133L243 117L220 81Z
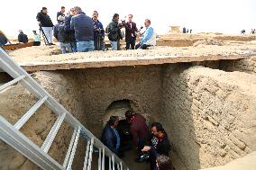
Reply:
M41 27L42 31L45 33L47 38L47 45L54 45L52 43L52 27L53 23L50 20L50 16L47 14L47 8L42 7L41 12L37 13L36 19Z

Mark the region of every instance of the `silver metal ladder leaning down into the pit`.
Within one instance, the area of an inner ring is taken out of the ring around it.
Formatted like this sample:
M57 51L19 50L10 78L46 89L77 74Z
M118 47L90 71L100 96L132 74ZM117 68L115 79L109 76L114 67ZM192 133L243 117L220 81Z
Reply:
M83 170L90 170L93 158L93 152L98 152L98 169L105 169L105 157L109 157L109 169L129 170L123 161L114 155L114 153L105 147L105 145L87 130L76 118L74 118L61 104L59 104L45 89L41 87L22 67L18 66L14 59L11 58L4 49L0 48L0 67L14 78L14 80L0 86L0 92L10 85L20 82L30 93L34 94L39 101L26 112L23 117L17 121L14 126L0 116L0 139L8 145L23 154L24 157L32 160L33 163L42 169L71 169L73 158L78 145L78 139L87 139L86 157L84 160ZM29 121L33 113L35 113L42 104L50 108L52 112L57 114L58 119L52 126L47 138L44 140L41 148L35 145L32 140L28 139L20 129ZM65 160L60 165L48 154L50 146L55 139L59 127L65 121L74 129L69 149Z

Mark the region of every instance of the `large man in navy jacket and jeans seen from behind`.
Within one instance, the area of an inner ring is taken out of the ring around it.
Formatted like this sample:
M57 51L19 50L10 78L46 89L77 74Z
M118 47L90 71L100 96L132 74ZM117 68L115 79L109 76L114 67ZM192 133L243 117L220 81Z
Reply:
M70 29L75 31L78 52L92 51L95 49L93 21L78 6L74 7L74 12Z

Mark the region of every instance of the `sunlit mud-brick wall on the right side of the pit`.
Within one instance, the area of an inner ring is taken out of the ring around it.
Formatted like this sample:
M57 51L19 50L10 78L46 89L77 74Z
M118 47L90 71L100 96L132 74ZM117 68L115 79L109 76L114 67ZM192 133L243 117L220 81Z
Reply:
M160 118L187 169L224 165L256 149L256 76L207 67L163 72Z

